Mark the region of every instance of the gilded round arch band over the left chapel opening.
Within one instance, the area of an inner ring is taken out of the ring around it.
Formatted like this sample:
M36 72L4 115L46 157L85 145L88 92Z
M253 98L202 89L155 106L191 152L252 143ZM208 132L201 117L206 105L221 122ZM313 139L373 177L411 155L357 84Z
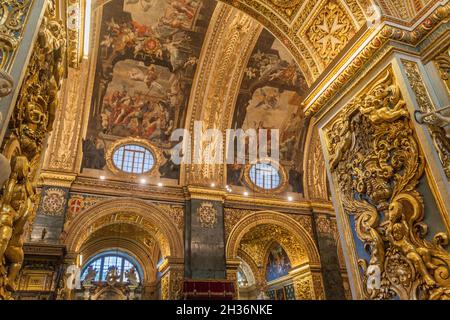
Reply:
M157 206L133 198L101 202L79 214L70 224L64 241L78 252L89 236L117 223L139 226L154 235L164 257L183 257L183 239L172 219Z

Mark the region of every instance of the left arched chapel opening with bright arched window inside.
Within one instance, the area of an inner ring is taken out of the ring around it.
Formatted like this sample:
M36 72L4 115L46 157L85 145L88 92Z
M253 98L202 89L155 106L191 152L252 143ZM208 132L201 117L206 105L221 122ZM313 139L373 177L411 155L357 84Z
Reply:
M118 199L100 203L76 216L64 240L71 251L86 262L81 274L82 298L158 299L164 276L160 265L164 261L170 266L167 262L170 259L180 261L183 258L181 237L171 217L157 207ZM112 268L107 268L105 255L120 262L116 270L109 260ZM94 262L96 264L92 265ZM89 266L98 269L94 274L91 268L94 281L89 278L85 281ZM127 273L130 274L132 267L130 280ZM109 287L114 292L103 294ZM119 291L122 294L118 294Z

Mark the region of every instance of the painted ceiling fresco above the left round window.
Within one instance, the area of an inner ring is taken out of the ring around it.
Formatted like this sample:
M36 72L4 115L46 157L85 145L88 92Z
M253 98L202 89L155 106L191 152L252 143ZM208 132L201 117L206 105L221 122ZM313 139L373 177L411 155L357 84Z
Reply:
M179 176L169 138L186 109L214 0L113 0L103 7L84 168L102 169L124 137L164 153L162 178Z

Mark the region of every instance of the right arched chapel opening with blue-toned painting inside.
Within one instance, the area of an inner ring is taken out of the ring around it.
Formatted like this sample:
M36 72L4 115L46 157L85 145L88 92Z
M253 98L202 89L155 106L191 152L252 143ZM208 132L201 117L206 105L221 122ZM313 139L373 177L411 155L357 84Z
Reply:
M317 248L295 220L277 212L246 216L233 228L227 259L237 259L241 299L314 299L313 277L320 277ZM308 292L300 283L309 282Z

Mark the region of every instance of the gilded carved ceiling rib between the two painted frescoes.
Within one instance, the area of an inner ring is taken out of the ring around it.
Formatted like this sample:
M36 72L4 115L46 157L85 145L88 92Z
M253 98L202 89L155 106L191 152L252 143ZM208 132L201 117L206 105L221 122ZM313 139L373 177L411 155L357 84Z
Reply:
M203 58L199 65L195 95L191 98L192 115L189 123L191 132L194 130L195 120L203 122L203 133L208 129L224 132L228 128L234 98L239 91L241 74L261 31L261 26L245 13L224 5L223 8L222 6L217 8L221 15L217 21L211 21L211 34L208 36L205 53L202 54ZM224 166L211 161L223 158L223 150L218 151L223 141L210 140L204 139L200 143L198 154L202 156L203 163L194 163L186 167L189 184L209 186L211 182L223 180ZM205 153L209 158L203 157Z

